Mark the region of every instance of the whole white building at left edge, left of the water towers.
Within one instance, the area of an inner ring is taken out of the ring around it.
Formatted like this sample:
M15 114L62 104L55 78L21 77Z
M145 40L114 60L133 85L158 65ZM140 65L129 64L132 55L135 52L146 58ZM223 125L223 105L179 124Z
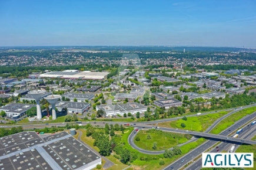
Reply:
M25 115L26 111L32 107L35 107L35 104L10 103L0 107L0 112L5 111L8 117L16 119Z

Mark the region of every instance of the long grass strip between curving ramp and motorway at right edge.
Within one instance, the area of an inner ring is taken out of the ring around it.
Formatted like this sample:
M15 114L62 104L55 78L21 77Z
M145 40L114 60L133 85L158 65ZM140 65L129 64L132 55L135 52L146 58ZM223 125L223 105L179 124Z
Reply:
M252 114L256 111L256 107L245 108L243 110L238 111L237 113L231 114L230 116L224 118L224 120L220 121L218 125L213 128L210 133L212 134L220 134L220 132L224 131L236 121L240 120L242 117L248 114Z

